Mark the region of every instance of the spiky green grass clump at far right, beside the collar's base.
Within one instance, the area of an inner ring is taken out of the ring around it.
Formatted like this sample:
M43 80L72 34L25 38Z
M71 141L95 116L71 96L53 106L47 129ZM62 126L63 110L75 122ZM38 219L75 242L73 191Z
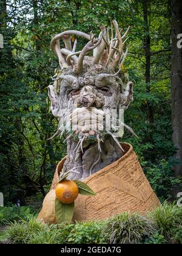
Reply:
M149 214L149 217L157 224L158 232L164 236L167 241L172 240L175 230L180 229L182 225L182 208L175 204L164 202Z

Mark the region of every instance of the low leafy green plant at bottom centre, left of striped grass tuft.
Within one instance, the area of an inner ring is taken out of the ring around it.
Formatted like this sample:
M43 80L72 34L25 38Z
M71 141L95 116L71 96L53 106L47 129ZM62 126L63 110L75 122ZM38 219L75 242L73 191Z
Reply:
M77 222L72 232L67 236L68 243L76 244L101 244L106 240L103 229L106 222L104 221L90 221Z

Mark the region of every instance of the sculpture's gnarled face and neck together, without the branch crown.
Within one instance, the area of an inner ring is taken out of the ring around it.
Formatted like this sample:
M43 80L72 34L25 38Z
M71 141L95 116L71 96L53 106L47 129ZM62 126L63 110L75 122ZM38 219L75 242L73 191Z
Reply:
M123 91L123 84L116 77L96 74L94 66L91 74L59 75L54 87L49 87L53 115L60 118L59 131L64 130L66 124L66 130L70 129L64 172L72 168L79 171L79 174L69 174L68 179L84 180L123 155L112 133L115 127L107 130L106 124L112 110L128 107L133 85L128 84L128 89Z

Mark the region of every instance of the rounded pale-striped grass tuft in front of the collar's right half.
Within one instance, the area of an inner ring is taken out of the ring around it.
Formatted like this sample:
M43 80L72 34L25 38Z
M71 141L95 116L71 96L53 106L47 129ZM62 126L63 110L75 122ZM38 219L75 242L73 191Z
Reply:
M141 243L146 237L156 231L155 224L150 219L138 214L122 213L110 219L106 232L111 244Z

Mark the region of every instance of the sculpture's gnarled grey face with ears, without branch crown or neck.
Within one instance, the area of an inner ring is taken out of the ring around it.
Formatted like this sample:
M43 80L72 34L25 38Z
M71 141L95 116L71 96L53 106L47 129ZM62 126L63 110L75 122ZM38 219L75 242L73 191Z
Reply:
M113 130L112 110L126 109L129 105L133 84L123 89L121 78L109 74L101 65L88 65L91 58L86 57L86 73L73 76L60 71L54 85L49 86L53 115L60 119L60 130L72 130L71 139L97 135L104 137L107 127ZM98 71L99 70L99 71ZM104 72L104 73L102 73ZM107 73L106 73L107 72ZM108 123L108 122L109 123ZM76 137L74 137L76 135Z

